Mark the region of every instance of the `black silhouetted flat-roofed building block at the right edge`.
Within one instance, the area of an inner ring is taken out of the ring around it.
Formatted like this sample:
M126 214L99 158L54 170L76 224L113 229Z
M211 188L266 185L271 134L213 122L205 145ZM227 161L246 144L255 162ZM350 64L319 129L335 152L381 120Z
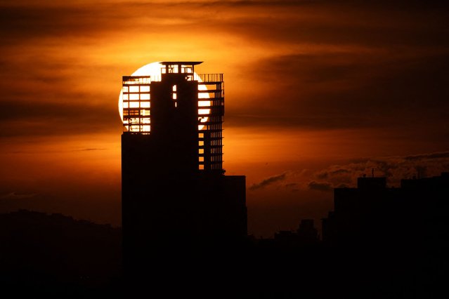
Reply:
M335 188L322 225L333 271L327 284L346 298L447 297L448 199L449 173L403 179L400 187L373 176Z

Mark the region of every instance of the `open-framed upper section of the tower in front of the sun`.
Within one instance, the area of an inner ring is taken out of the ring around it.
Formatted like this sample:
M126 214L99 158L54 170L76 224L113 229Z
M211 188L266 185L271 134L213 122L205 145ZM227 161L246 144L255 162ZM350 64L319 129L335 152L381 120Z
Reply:
M124 76L123 134L148 135L179 166L223 173L223 74L197 74L200 63L160 62L160 76Z

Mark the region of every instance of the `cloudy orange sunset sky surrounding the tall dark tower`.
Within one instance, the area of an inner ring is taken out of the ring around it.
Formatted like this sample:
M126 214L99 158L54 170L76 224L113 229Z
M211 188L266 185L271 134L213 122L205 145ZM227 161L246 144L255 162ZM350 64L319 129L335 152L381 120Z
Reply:
M120 221L121 78L223 73L224 167L249 233L317 222L332 187L449 169L449 10L422 1L0 1L0 211Z

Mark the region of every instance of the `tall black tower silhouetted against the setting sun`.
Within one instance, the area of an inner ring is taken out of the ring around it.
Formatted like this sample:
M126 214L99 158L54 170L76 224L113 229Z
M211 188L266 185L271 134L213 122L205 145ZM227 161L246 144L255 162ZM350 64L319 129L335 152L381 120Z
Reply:
M125 275L155 254L173 260L247 237L245 176L223 169L223 74L197 75L200 63L123 77Z

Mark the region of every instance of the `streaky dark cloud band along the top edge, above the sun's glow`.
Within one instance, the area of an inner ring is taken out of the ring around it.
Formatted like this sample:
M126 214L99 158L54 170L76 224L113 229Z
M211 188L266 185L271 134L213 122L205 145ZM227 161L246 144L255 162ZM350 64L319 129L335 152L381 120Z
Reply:
M2 36L20 41L63 35L95 38L122 30L204 29L207 23L209 31L231 32L271 45L419 45L448 43L446 16L434 1L421 6L410 1L100 1L60 6L40 1L4 4L0 28ZM181 20L182 26L174 20Z

